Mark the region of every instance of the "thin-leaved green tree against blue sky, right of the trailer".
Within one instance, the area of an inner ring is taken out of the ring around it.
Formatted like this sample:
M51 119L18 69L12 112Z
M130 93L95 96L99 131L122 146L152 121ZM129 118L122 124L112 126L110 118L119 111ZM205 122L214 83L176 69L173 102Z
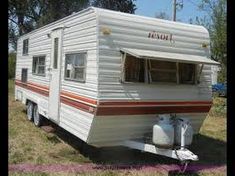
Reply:
M198 7L206 11L208 17L197 17L195 23L205 26L210 33L211 58L220 62L218 81L224 82L227 75L227 1L201 0Z

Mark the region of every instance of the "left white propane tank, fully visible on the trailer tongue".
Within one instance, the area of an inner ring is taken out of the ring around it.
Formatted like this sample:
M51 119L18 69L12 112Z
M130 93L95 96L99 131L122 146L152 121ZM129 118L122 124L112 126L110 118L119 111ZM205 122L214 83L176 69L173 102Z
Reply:
M174 144L174 127L168 114L159 115L159 122L153 126L153 143L161 148L171 148Z

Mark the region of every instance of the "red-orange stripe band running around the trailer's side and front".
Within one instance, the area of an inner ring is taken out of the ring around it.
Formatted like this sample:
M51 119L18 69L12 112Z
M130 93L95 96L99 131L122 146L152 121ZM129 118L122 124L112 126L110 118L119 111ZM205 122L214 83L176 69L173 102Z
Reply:
M26 88L44 96L49 96L49 88L32 82L23 83L15 81L17 86ZM62 103L74 108L96 114L104 115L141 115L159 113L197 113L209 112L211 101L101 101L97 105L97 100L61 91L60 100ZM97 105L97 108L94 107Z

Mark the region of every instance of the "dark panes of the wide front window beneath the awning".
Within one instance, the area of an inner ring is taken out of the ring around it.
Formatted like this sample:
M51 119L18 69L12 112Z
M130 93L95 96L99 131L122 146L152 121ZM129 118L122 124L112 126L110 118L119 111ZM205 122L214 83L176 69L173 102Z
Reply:
M195 64L126 56L124 66L126 82L195 84Z

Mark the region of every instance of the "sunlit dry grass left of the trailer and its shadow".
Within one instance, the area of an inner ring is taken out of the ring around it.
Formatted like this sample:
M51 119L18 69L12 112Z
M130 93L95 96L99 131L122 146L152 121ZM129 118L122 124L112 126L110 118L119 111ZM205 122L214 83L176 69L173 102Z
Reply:
M90 162L79 151L46 133L26 118L25 106L14 101L14 84L9 81L9 163L77 163Z

